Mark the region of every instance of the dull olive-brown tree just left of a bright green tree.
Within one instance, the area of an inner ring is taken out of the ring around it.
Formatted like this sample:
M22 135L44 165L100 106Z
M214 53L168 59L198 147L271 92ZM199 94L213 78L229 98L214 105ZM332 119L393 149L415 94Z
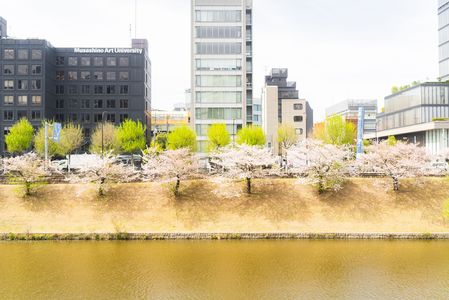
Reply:
M103 130L102 130L103 126ZM103 134L102 134L103 131ZM103 138L102 138L103 136ZM98 124L90 137L90 152L101 154L103 140L103 152L117 154L120 152L120 141L117 137L117 127L112 123Z

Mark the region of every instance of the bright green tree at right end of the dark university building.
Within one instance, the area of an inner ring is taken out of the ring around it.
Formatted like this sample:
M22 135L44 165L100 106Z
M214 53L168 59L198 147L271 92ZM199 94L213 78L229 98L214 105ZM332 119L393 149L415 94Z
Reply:
M140 121L125 120L117 130L117 137L121 149L130 154L135 154L146 148L146 127ZM131 155L134 164L134 156Z

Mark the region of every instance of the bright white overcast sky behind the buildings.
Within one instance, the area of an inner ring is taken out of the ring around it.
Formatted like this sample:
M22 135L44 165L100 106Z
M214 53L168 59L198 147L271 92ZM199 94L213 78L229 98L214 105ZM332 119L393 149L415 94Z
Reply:
M254 84L289 69L315 121L348 98L382 100L392 85L438 76L437 0L253 0ZM126 47L134 0L0 0L9 35L57 47ZM137 37L152 60L153 107L190 87L190 0L137 0Z

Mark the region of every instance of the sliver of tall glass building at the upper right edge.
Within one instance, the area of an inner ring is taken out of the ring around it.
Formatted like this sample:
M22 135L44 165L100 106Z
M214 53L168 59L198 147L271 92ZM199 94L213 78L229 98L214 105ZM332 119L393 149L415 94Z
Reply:
M449 0L438 0L440 78L449 80Z

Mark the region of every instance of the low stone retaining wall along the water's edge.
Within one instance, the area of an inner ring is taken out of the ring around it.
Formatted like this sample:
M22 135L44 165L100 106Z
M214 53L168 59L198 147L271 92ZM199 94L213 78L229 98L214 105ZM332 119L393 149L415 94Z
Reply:
M1 233L0 241L449 240L449 233Z

